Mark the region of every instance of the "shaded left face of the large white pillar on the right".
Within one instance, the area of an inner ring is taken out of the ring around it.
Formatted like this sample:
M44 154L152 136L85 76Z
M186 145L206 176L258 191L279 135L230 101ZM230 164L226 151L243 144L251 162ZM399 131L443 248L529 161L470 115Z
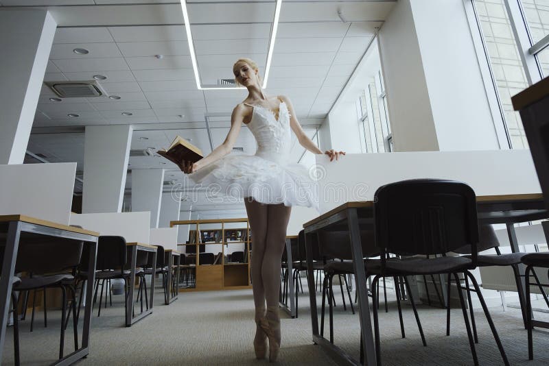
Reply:
M438 33L438 29L432 29L432 32ZM379 30L379 51L395 151L439 149L418 42L410 0L399 0Z

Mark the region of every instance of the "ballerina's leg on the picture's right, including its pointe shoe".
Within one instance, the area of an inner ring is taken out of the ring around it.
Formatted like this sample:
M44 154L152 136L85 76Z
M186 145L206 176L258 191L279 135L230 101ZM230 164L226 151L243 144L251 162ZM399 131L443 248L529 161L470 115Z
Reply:
M268 205L268 228L261 276L267 301L266 329L269 337L269 361L276 361L280 341L279 287L280 263L284 251L286 229L290 220L290 207L283 204ZM266 325L266 324L265 324Z

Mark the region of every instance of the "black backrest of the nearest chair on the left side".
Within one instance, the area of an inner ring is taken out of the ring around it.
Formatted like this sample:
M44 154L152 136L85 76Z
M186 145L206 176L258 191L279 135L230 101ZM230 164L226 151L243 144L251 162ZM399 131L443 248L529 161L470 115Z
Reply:
M82 242L53 237L25 242L19 246L15 271L43 274L75 269L83 247Z

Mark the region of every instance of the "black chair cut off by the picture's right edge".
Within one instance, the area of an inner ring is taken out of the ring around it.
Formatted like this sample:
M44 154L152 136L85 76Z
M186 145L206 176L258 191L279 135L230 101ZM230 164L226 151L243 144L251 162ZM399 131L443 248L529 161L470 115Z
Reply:
M534 359L534 347L532 339L532 330L534 327L549 328L549 321L541 321L532 319L532 300L530 299L530 276L534 276L535 284L541 289L546 303L548 302L547 295L543 291L543 287L549 287L549 284L542 284L534 270L534 267L549 269L549 253L530 253L522 257L522 263L526 265L524 276L526 277L526 329L528 330L528 359ZM531 275L530 275L531 273ZM548 271L549 276L549 271Z

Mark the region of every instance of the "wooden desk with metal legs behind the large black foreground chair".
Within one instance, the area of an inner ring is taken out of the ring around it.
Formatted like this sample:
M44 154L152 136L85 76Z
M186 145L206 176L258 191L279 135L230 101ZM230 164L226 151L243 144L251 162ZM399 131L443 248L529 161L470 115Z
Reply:
M477 210L480 223L506 223L513 252L518 251L514 223L549 217L549 212L544 208L544 200L541 194L478 196ZM320 335L318 331L318 314L312 269L312 235L320 229L348 230L351 239L356 291L358 293L358 314L362 332L364 362L367 365L376 365L372 325L369 314L369 299L366 289L366 273L362 261L364 257L362 256L362 246L360 244L360 230L373 230L373 202L347 202L305 223L303 228L305 229L305 247L307 249L307 272L309 275L309 302L311 304L313 342L323 347L339 364L360 365L359 361L356 361L340 349L340 347L330 343ZM359 259L355 260L355 258ZM524 274L524 269L522 271ZM524 282L524 277L522 280ZM442 287L446 291L445 286ZM519 294L521 293L523 293L523 290L519 289Z

